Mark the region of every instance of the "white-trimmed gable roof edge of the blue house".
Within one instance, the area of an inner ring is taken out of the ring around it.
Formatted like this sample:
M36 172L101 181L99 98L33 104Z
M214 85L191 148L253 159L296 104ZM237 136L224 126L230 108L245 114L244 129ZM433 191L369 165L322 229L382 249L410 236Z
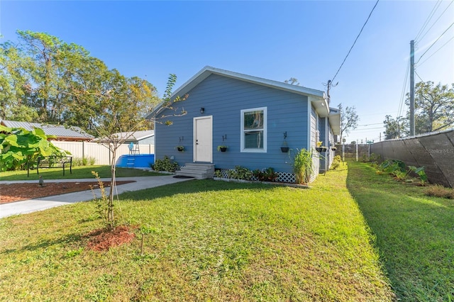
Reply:
M326 98L325 92L321 90L311 89L304 86L297 86L292 84L287 84L284 82L277 82L271 79L262 79L260 77L253 77L248 74L240 74L238 72L231 72L224 69L219 69L211 66L206 66L197 72L194 77L189 79L186 83L182 84L177 90L172 94L172 99L177 96L183 96L187 94L191 89L200 84L204 79L209 77L211 74L218 74L223 77L230 77L233 79L239 79L240 81L250 82L253 84L258 84L262 86L267 86L273 89L279 89L284 91L289 91L293 94L301 94L303 96L308 96L309 101L312 102L312 105L316 109L319 116L326 117L329 115L328 101Z

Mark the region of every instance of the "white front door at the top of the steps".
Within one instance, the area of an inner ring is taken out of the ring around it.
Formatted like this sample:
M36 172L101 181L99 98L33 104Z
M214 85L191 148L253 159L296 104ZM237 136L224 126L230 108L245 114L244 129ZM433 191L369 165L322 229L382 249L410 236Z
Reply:
M194 162L213 162L213 116L194 118Z

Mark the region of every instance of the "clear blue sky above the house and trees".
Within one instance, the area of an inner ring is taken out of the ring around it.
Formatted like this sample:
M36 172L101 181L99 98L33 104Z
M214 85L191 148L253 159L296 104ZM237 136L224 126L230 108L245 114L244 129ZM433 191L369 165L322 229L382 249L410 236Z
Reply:
M147 79L160 94L170 73L177 74L177 88L206 65L282 82L295 77L303 86L325 90L374 5L0 0L0 43L16 40L16 30L49 33L82 45L128 77ZM404 83L410 40L418 38L416 61L428 50L416 66L423 81L454 83L454 26L433 44L453 22L453 0L377 4L331 90L331 106L355 106L360 116L348 142L378 141L384 116L398 115L402 91L409 91Z

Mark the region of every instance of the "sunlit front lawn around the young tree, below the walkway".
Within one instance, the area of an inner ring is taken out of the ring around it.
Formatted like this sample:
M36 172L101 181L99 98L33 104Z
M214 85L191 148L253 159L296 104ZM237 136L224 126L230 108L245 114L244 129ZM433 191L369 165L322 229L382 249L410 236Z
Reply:
M311 189L191 180L128 192L107 252L89 201L0 219L1 301L391 301L347 170Z

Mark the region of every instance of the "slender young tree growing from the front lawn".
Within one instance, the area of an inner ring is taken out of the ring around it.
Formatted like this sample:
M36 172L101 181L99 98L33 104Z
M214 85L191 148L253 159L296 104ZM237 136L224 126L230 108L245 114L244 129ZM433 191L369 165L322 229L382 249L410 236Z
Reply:
M116 186L116 151L118 147L133 135L136 130L143 130L150 127L150 122L157 121L165 116L158 114L166 109L178 111L175 116L184 115L184 109L179 111L175 107L178 101L185 98L178 96L171 99L172 87L175 85L177 77L171 74L167 82L162 104L157 106L153 102L154 87L148 82L139 78L126 79L116 70L104 74L104 85L93 85L90 90L79 91L74 94L74 102L71 111L75 116L87 114L92 132L101 138L101 142L111 151L111 186L109 198L107 200L107 227L114 230L114 188ZM145 113L152 112L150 116ZM118 137L114 133L128 133L123 137Z

